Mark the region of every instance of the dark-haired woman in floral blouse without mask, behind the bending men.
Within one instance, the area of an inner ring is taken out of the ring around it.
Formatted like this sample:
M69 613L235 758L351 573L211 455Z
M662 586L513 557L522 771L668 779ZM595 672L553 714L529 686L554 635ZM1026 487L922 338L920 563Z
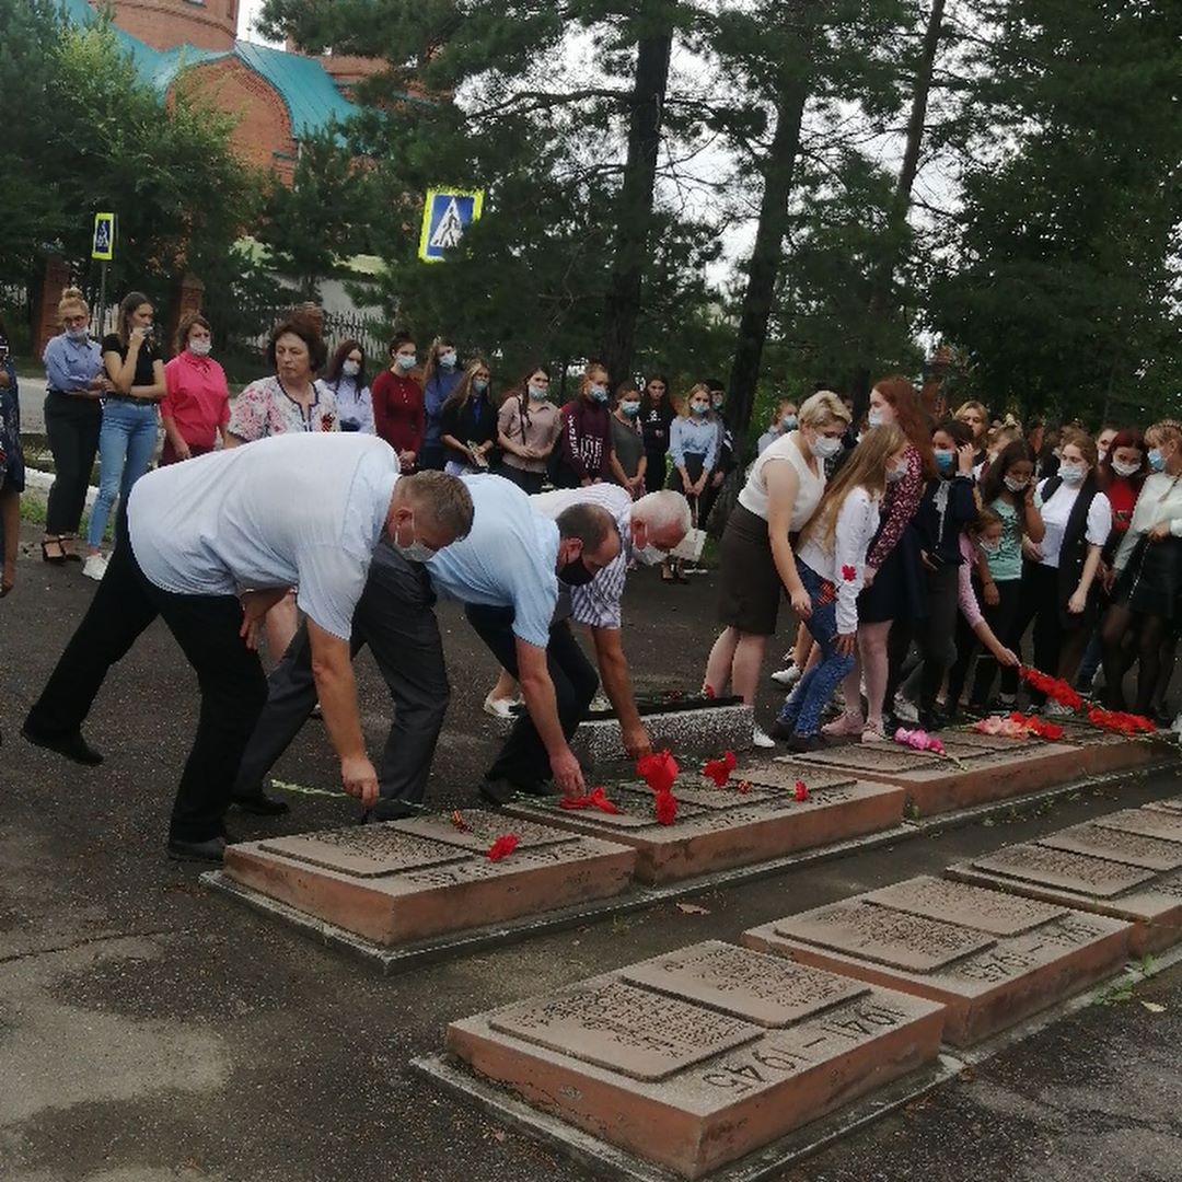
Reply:
M267 361L275 376L252 382L234 400L226 446L238 447L290 431L339 431L332 390L316 377L327 356L312 320L293 316L277 324L267 344ZM296 597L280 599L267 612L265 624L267 651L278 661L299 626Z

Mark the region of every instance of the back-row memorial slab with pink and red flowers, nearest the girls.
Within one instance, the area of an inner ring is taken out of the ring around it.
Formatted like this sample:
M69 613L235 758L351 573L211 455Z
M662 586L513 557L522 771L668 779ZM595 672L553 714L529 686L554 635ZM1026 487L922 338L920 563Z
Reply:
M800 759L818 769L898 785L907 792L909 816L930 817L1177 758L1164 741L1130 741L1079 725L1065 730L1053 743L943 730L947 756L889 742L843 743Z

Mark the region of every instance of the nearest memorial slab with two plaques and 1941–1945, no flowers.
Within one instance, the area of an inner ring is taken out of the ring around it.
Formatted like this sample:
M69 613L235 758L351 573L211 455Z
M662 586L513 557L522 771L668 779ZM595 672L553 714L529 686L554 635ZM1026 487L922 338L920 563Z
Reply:
M448 1051L699 1178L935 1061L942 1007L714 941L453 1022Z

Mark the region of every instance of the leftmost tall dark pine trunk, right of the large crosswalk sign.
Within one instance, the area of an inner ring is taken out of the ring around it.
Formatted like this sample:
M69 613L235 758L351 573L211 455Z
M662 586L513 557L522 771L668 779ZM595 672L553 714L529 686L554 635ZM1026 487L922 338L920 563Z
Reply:
M628 160L617 216L616 258L604 305L600 350L613 383L623 382L632 371L671 52L673 32L669 30L642 38L637 46Z

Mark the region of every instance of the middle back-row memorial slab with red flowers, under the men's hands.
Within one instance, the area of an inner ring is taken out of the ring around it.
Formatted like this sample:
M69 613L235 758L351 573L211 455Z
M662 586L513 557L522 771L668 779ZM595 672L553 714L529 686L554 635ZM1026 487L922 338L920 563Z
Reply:
M798 801L794 790L801 779L808 797ZM648 884L768 862L891 829L903 816L902 788L864 784L847 773L794 760L740 766L722 788L683 769L673 791L677 816L671 825L657 821L652 793L642 782L610 790L618 814L567 811L557 798L513 803L505 811L631 846L636 877Z

